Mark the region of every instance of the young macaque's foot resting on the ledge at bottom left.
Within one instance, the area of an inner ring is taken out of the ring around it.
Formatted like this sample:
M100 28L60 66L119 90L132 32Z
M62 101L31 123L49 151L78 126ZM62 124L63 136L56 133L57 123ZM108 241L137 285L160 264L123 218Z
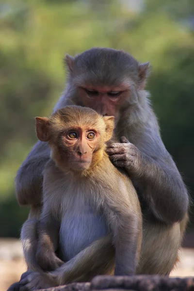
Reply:
M46 289L57 285L54 277L50 276L50 274L27 271L21 275L19 291Z

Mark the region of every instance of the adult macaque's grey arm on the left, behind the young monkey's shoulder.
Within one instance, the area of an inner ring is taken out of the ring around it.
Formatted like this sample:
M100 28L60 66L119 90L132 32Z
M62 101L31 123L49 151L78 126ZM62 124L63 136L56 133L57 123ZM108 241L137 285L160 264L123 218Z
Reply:
M20 205L38 205L42 195L42 172L49 161L50 150L46 143L38 141L17 171L16 197Z

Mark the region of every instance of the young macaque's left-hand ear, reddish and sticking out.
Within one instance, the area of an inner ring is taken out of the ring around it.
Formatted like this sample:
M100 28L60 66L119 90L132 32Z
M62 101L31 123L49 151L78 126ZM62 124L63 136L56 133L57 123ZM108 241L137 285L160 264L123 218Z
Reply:
M49 141L49 118L47 117L35 117L36 120L36 135L41 142Z

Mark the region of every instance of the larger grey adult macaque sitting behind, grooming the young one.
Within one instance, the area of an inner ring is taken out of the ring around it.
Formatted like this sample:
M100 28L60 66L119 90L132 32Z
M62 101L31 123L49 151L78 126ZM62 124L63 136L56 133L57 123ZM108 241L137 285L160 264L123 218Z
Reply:
M107 153L132 179L145 218L137 273L169 275L186 226L188 194L162 143L144 90L149 64L139 64L122 50L105 48L89 49L75 58L66 55L65 63L66 90L54 111L76 104L114 116L114 134L121 143L110 145ZM17 172L17 199L20 205L31 205L29 218L40 215L42 172L49 153L39 141Z

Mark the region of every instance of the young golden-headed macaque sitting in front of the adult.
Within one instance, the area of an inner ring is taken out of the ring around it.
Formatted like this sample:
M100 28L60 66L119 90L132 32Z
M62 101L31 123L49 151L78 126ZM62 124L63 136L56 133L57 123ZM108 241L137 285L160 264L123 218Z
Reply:
M30 263L37 259L43 262L43 268L46 265L45 269L55 269L61 263L54 253L59 236L59 254L68 263L50 273L31 272L20 280L20 291L71 282L67 270L77 267L75 258L83 259L73 281L89 281L94 275L112 273L112 244L114 274L135 274L142 242L142 213L132 182L123 170L113 166L105 152L113 126L113 116L102 117L80 106L66 106L50 118L36 117L37 137L48 142L51 159L44 170L36 255L31 246L28 258L31 257ZM95 255L91 252L93 247L106 252ZM101 264L102 255L106 257L105 264ZM88 268L93 261L100 268L94 269L94 263Z

